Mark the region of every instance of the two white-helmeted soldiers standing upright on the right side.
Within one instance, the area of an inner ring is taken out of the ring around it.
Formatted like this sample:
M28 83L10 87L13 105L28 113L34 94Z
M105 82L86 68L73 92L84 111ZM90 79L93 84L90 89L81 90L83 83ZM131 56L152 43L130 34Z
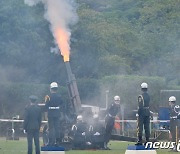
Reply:
M142 145L142 132L143 127L145 130L145 144L149 142L150 138L150 96L148 94L148 84L141 84L142 94L138 96L138 116L137 116L137 137L136 145ZM176 104L176 97L169 97L169 117L170 117L170 133L171 141L178 144L179 140L179 120L180 119L180 106ZM176 146L172 151L177 151Z

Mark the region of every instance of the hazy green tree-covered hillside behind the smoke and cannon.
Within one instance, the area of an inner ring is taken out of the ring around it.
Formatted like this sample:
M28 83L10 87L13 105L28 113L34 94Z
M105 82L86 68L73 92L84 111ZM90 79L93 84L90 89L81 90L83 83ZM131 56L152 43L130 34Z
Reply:
M93 87L98 91L95 85L105 76L157 76L171 87L180 86L180 0L77 4L70 63L82 98L95 97ZM43 4L29 7L23 0L1 0L0 6L1 83L57 81L65 86L62 57L50 52L56 44Z

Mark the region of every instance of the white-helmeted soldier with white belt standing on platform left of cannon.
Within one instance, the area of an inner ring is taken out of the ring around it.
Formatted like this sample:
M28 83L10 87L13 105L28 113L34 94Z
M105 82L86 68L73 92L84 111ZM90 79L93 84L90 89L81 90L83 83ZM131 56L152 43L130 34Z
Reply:
M49 146L58 145L61 142L60 138L60 107L62 100L57 95L58 84L52 82L50 84L50 95L45 97L45 110L48 112L49 125Z

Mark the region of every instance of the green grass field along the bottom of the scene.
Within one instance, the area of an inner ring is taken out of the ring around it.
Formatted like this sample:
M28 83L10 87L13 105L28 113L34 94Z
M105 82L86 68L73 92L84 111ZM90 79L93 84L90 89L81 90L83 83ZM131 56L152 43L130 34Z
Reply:
M128 145L133 145L131 142L111 141L109 147L112 150L71 150L66 151L66 154L124 154ZM0 138L0 154L26 154L27 142L26 139L19 141L10 141ZM157 150L157 154L174 154L169 150Z

